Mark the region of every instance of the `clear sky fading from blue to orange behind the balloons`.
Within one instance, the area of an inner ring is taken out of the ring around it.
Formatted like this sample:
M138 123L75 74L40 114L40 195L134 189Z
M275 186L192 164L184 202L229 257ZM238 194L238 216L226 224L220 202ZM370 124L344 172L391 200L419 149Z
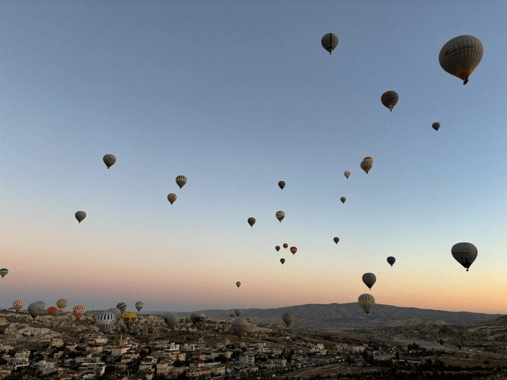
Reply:
M370 292L507 312L503 0L0 10L0 307L278 308ZM466 86L438 60L461 34L484 46ZM478 248L469 272L459 242Z

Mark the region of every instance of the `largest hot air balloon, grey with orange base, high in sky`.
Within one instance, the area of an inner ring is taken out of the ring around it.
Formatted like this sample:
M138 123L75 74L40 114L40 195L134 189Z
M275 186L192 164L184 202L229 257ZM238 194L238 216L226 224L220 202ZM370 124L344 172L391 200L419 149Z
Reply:
M473 35L458 35L440 49L439 63L449 74L463 80L468 77L481 62L483 47L481 41Z

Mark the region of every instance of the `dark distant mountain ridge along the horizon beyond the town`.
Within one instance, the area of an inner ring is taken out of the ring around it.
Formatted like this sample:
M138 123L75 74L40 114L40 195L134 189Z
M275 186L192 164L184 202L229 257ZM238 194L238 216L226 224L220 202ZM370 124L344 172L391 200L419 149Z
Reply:
M229 319L229 315L234 313L234 309L228 310L195 310L202 312L206 316ZM171 314L163 311L146 312L150 314L167 315ZM180 317L188 317L193 312L175 312ZM472 312L448 312L444 310L404 308L399 306L376 304L371 313L367 316L357 305L357 302L350 303L329 303L328 305L320 303L308 303L307 305L290 306L277 309L242 309L241 316L250 317L258 322L282 323L283 313L292 313L295 324L315 324L315 325L356 325L372 324L384 325L388 321L395 320L441 320L447 324L478 323L493 318L502 317L503 314L485 314Z

